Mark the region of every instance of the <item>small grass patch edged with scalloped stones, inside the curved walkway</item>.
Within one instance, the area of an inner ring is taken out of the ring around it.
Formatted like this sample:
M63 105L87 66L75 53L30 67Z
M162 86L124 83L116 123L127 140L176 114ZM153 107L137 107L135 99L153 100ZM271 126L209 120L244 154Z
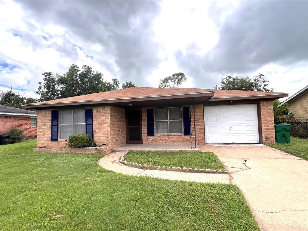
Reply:
M213 152L145 152L133 151L124 156L128 162L156 166L221 169L225 166Z

